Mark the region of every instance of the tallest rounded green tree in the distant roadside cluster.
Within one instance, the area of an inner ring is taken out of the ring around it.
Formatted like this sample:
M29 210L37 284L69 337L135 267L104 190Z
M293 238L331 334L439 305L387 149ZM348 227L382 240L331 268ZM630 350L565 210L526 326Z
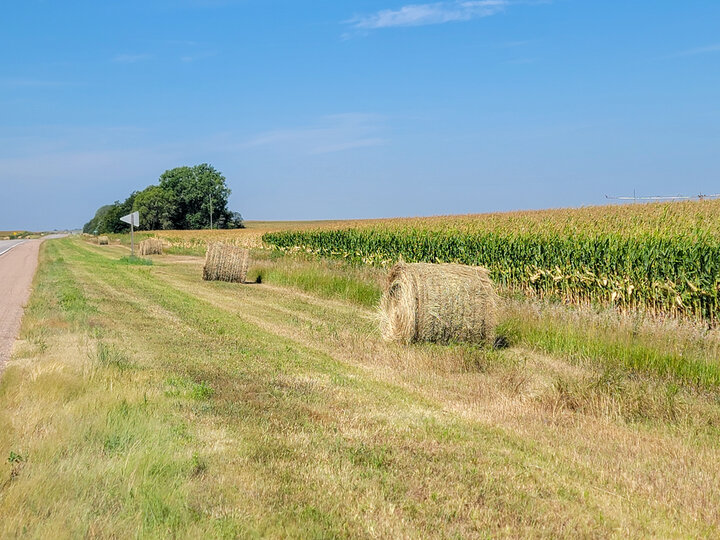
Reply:
M160 187L172 193L177 201L173 223L176 229L206 229L214 224L227 224L232 219L228 210L230 188L225 177L212 165L176 167L160 176Z

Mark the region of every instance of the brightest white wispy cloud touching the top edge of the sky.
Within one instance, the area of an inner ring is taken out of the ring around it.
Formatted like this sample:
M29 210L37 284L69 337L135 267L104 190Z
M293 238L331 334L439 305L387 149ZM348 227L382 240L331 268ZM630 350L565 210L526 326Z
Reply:
M384 9L370 15L357 15L346 23L356 30L443 24L489 17L500 13L509 4L510 0L455 0L409 4L398 9Z

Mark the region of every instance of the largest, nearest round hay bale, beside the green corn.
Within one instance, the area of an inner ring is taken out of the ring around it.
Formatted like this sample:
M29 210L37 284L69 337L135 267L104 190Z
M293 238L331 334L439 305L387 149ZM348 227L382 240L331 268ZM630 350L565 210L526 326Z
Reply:
M380 304L386 341L492 344L498 296L485 268L462 264L396 264Z

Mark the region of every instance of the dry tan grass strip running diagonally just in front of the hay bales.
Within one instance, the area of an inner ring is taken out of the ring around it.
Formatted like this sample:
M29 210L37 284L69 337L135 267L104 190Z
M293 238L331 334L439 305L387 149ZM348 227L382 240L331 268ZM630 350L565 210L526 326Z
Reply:
M637 528L648 507L694 515L709 528L717 522L713 507L696 497L717 497L718 475L707 468L720 425L717 394L639 376L614 363L594 366L582 359L577 364L584 368L574 368L522 349L392 347L380 342L365 309L347 313L335 302L281 288L197 286L196 272L192 266L174 268L162 278L286 339L363 366L448 413L523 433L535 452L582 463L605 481L597 485L578 476L578 485L614 493L626 503L642 499L630 515L616 513L619 522L627 519ZM698 475L708 473L698 482ZM562 482L572 484L566 477Z

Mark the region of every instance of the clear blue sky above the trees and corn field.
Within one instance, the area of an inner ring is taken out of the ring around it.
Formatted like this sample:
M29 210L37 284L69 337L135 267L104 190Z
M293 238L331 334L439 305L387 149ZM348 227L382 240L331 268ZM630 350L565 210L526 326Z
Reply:
M720 2L9 0L0 230L168 168L246 219L720 192Z

